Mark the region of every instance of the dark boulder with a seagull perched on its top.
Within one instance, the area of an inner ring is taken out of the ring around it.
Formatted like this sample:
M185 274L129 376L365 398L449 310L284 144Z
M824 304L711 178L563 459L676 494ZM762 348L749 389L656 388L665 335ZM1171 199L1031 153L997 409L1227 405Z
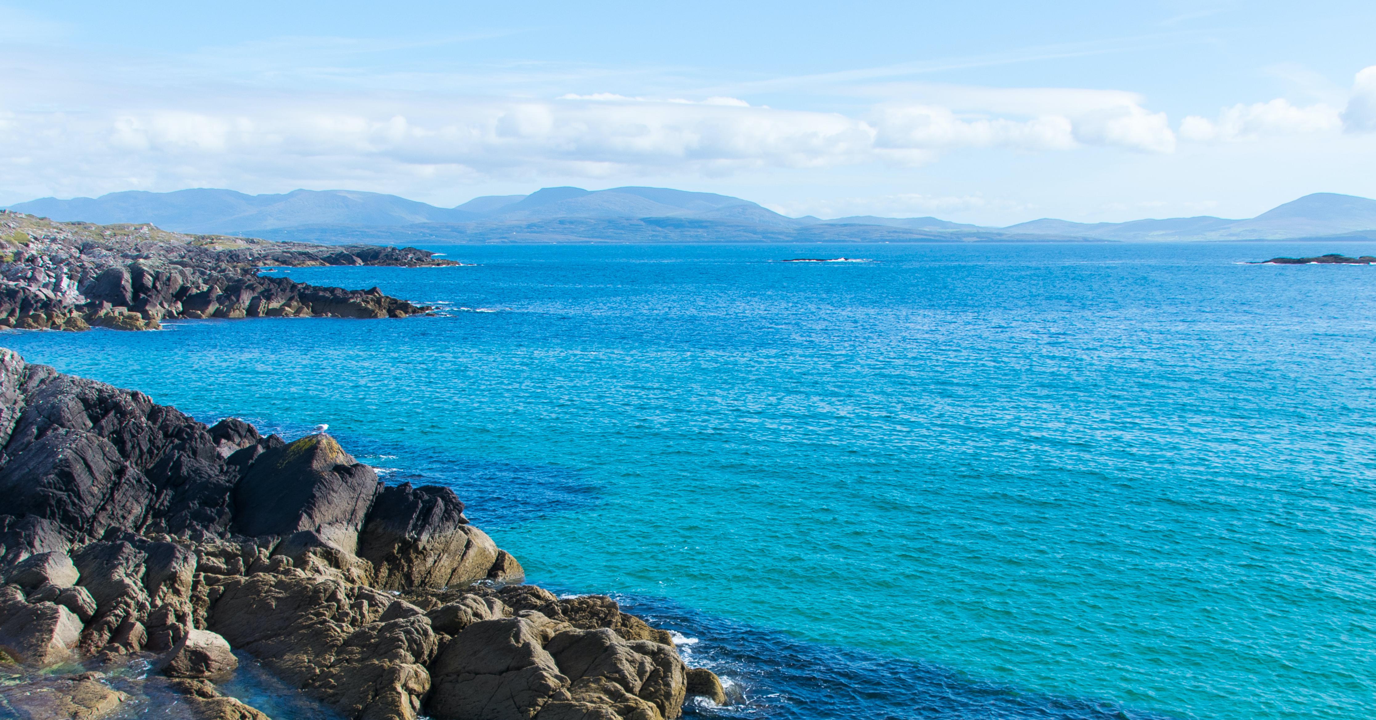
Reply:
M373 468L334 438L308 435L253 461L234 489L234 525L246 536L314 530L352 551L377 493Z

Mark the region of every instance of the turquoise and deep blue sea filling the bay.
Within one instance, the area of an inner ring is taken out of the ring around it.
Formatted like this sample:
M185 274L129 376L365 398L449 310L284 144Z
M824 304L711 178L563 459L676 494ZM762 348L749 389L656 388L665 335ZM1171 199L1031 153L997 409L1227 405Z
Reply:
M439 317L0 346L453 486L681 633L739 699L691 716L1355 720L1376 267L1245 262L1372 251L449 246L285 273Z

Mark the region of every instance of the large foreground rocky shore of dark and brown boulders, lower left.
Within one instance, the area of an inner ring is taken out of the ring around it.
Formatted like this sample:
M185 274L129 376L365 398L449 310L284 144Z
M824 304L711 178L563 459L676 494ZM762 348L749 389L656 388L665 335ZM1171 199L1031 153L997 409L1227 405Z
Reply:
M235 650L350 719L671 720L689 694L725 699L667 632L523 585L453 490L388 486L329 435L206 427L0 350L0 449L15 717L162 697L263 719L215 684Z

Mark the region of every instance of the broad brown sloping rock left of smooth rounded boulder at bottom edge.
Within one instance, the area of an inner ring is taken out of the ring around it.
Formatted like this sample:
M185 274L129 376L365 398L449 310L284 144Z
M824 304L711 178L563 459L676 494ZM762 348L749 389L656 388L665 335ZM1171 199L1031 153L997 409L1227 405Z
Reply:
M336 580L257 574L222 588L211 629L283 681L347 717L416 717L438 644L428 618L381 622L394 597Z

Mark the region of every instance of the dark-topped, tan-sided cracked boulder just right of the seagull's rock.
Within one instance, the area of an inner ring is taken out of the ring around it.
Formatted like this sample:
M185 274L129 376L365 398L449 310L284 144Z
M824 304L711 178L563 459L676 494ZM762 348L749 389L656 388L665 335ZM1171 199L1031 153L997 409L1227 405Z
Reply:
M410 483L384 487L359 534L358 555L385 589L462 586L487 578L497 545L468 525L453 490Z

